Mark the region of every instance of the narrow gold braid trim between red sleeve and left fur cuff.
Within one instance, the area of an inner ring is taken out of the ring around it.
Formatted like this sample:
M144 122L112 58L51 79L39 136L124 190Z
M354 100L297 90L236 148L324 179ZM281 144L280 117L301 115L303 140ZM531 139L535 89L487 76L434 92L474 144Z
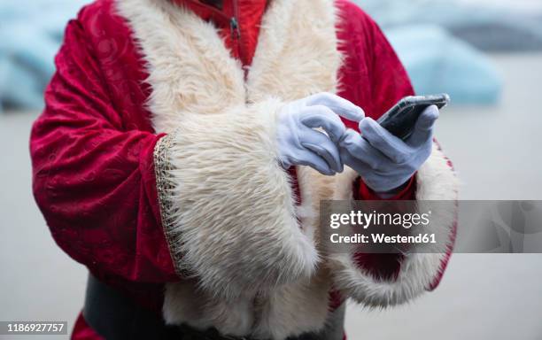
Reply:
M173 192L175 183L171 175L173 166L170 161L169 151L171 150L172 145L174 145L176 135L177 133L174 131L173 133L160 138L154 147L153 158L162 228L164 228L169 253L174 262L175 273L179 276L184 276L185 270L181 267L182 243L177 239L179 236L174 236L172 232L174 228Z

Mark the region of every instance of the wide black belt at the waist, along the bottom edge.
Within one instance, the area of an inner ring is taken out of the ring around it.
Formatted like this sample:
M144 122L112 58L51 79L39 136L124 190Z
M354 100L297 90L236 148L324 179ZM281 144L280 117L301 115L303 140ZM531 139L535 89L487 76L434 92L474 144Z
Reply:
M122 292L100 282L92 274L89 274L82 313L90 328L107 340L251 340L248 337L221 336L214 328L199 331L185 325L168 326L159 315L136 305ZM335 329L329 328L325 334L306 334L296 339L342 339L344 313L344 306L334 313L337 316Z

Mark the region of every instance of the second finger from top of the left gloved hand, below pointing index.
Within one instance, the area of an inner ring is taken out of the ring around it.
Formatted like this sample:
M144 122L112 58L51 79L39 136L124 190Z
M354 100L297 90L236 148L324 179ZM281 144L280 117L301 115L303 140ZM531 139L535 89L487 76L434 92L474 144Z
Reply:
M323 128L335 143L338 143L346 130L345 124L338 118L337 114L323 105L304 108L301 112L300 121L307 128Z

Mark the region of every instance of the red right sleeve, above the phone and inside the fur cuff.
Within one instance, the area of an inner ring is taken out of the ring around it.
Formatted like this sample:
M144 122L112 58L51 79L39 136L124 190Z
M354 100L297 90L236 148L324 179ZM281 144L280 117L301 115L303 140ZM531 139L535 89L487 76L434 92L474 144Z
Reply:
M345 51L348 62L344 81L346 92L365 114L374 120L380 118L402 97L412 96L414 89L404 66L383 35L382 30L367 13L347 1L338 3L345 27L342 35L348 42ZM352 122L345 122L350 128L358 129ZM391 200L415 199L415 176ZM353 197L357 200L381 200L360 177L353 183ZM400 254L357 253L356 264L371 274L391 279L399 274L402 256Z

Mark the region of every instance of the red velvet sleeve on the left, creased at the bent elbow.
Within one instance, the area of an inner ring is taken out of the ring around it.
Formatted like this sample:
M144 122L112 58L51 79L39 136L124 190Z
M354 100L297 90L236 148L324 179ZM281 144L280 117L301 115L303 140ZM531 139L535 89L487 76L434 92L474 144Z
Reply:
M72 20L32 129L35 200L58 245L91 271L175 280L155 187L160 135L126 128L89 45Z

